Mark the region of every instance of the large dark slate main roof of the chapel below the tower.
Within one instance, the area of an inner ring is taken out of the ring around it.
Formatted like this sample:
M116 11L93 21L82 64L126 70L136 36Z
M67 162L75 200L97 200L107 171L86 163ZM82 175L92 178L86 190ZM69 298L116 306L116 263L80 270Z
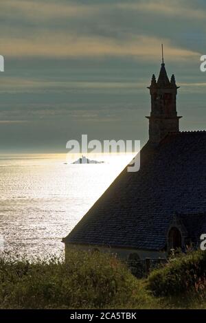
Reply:
M139 172L125 168L63 242L161 250L176 212L190 234L206 233L206 131L170 133L140 157Z

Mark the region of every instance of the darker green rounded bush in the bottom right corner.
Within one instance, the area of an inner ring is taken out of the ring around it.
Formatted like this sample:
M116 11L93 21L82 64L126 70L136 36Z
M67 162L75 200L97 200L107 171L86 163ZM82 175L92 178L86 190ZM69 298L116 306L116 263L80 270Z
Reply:
M161 297L164 307L206 309L206 253L199 250L170 258L150 273L147 288Z

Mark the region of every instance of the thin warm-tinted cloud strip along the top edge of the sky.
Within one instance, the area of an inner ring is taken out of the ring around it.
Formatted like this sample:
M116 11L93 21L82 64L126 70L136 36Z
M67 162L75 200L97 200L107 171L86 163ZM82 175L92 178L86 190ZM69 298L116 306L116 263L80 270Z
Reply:
M205 11L198 8L198 1L189 0L136 0L136 1L70 1L70 0L7 0L1 3L1 12L8 15L23 14L32 21L64 19L102 14L102 10L138 10L150 14L181 16L183 19L205 19ZM176 10L178 8L178 10Z

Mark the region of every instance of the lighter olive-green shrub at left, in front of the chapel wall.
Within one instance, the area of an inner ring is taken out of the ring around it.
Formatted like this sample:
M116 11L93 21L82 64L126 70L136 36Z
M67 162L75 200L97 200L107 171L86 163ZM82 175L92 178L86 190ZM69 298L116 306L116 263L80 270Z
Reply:
M141 283L115 257L71 252L68 262L55 258L30 263L0 260L1 308L126 308L150 301Z

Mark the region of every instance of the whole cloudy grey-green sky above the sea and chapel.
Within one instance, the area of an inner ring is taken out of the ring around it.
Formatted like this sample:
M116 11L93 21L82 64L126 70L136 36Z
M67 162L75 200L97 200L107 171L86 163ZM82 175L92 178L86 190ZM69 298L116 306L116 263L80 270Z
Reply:
M206 0L1 0L0 152L64 153L68 140L148 140L161 43L181 130L206 124Z

